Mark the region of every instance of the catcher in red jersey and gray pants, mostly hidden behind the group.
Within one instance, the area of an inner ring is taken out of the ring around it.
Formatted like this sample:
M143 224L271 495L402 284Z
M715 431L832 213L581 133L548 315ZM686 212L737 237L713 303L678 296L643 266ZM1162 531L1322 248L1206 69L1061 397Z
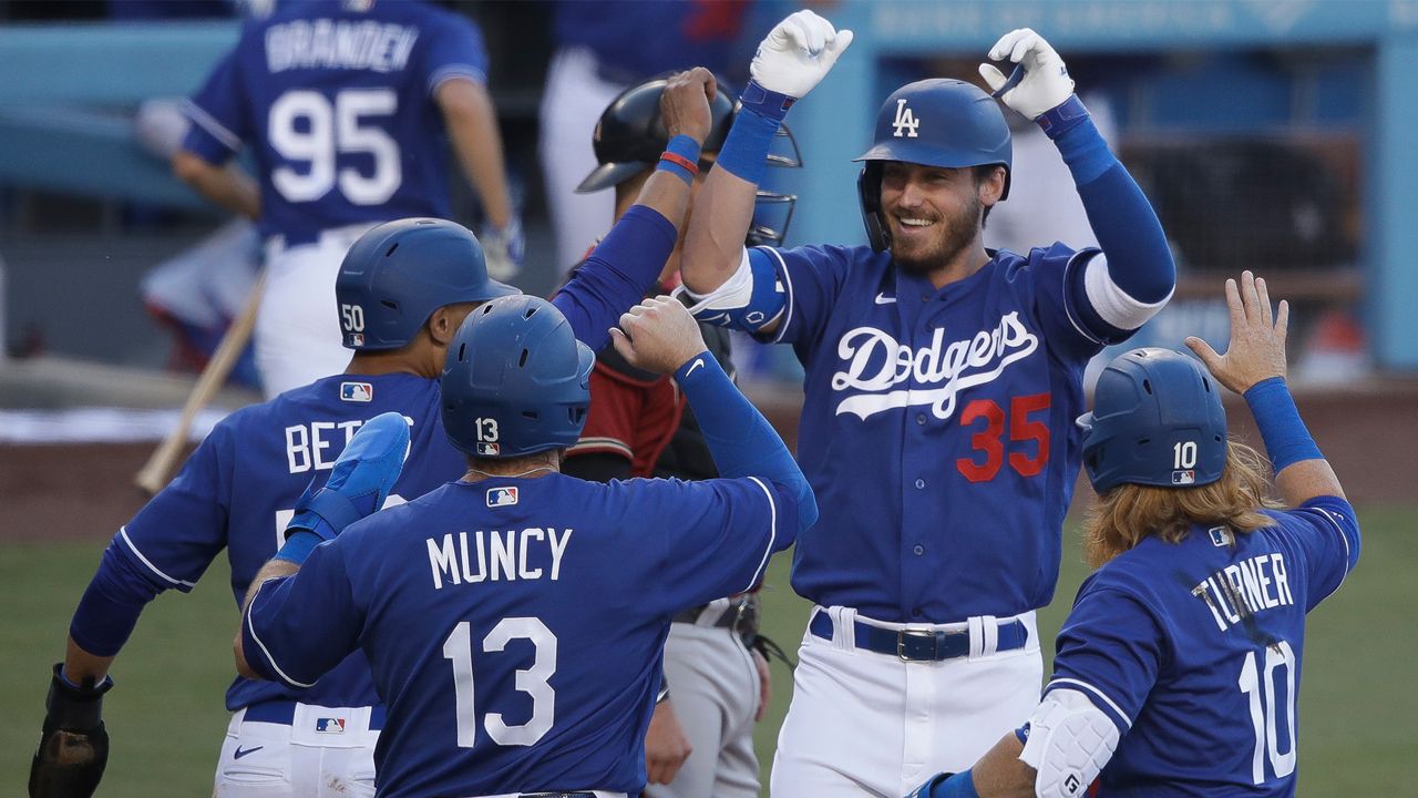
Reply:
M577 190L615 189L615 216L635 199L665 149L659 95L665 80L625 89L601 114L594 148L600 165ZM720 87L710 111L700 176L733 121L732 94ZM797 165L795 158L776 163ZM781 206L791 197L766 196ZM781 230L756 226L750 243L781 241ZM679 284L678 247L661 273L664 294ZM729 375L727 331L700 325L709 352ZM668 378L625 362L607 346L591 372L591 403L581 440L569 452L564 473L608 481L630 477L706 480L719 476L685 396ZM757 635L757 595L739 594L675 616L665 643L665 684L645 738L652 798L750 797L759 794L753 727L770 696L770 676Z

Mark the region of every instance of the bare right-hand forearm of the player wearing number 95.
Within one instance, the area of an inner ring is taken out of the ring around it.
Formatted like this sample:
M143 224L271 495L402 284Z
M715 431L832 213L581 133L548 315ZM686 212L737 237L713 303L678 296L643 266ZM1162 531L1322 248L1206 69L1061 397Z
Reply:
M438 87L435 99L462 173L478 192L488 222L493 227L505 227L512 220L512 197L508 193L498 114L488 89L471 80L454 78Z

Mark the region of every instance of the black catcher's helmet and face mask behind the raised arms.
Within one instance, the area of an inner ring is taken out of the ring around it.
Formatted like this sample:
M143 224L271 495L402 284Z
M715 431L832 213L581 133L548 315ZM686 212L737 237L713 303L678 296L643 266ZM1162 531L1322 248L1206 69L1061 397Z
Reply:
M596 122L596 135L591 146L596 151L596 160L600 163L576 187L577 193L598 192L611 186L618 186L647 169L654 169L659 163L659 155L669 143L669 133L659 118L659 97L669 84L668 75L659 75L648 81L635 84L620 94ZM702 151L706 153L719 152L729 128L733 126L736 108L730 99L733 92L723 82L718 84L713 102L709 104L710 126L705 136ZM797 151L797 141L787 125L778 125L781 142L769 153L769 165L797 168L803 165ZM702 165L708 169L708 165ZM788 223L793 220L793 209L797 196L777 192L760 190L754 204L753 223L749 227L747 244L781 244L787 234Z

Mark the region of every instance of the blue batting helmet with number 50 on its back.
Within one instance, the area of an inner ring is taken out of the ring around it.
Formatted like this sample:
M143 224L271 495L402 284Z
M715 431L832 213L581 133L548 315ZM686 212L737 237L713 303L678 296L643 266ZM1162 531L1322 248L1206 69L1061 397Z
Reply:
M364 233L335 278L345 346L370 352L408 345L432 312L519 294L488 277L482 244L442 219L400 219Z

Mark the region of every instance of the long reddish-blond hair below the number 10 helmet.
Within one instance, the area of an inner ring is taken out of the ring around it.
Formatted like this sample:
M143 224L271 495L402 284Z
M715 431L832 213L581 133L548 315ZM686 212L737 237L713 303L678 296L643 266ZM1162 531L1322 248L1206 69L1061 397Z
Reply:
M1122 484L1099 494L1083 525L1083 554L1099 568L1147 537L1181 542L1194 524L1225 525L1246 534L1275 525L1261 508L1278 508L1269 498L1271 464L1259 452L1227 442L1221 479L1200 487Z

